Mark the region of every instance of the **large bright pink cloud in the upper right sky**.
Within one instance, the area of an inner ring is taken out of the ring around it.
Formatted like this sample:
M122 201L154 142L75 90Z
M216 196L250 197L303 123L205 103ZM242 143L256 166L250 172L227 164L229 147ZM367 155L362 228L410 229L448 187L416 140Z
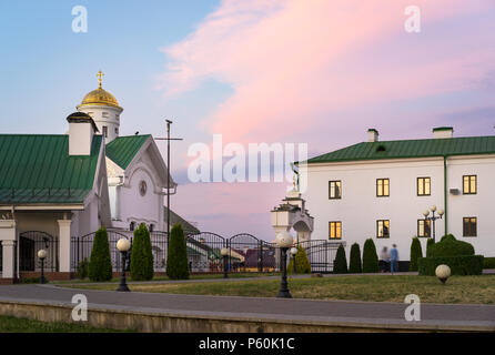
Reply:
M185 40L163 50L170 60L161 78L165 97L205 79L228 83L233 95L203 126L223 133L225 142L273 141L297 132L301 122L317 130L315 118L325 112L463 90L494 69L493 48L478 45L473 53L455 38L428 40L440 37L435 29L442 21L463 23L493 2L415 1L420 34L404 31L408 4L225 0ZM493 42L494 36L485 37ZM391 45L396 49L386 54Z

